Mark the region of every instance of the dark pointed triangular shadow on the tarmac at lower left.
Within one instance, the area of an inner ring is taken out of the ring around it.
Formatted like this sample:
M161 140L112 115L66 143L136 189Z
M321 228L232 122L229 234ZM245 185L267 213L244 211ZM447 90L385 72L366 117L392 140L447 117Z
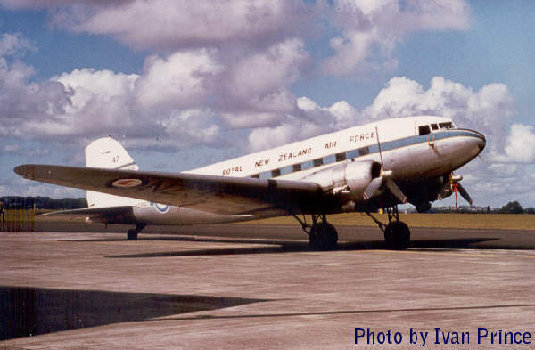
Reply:
M267 300L0 286L0 340L264 301Z

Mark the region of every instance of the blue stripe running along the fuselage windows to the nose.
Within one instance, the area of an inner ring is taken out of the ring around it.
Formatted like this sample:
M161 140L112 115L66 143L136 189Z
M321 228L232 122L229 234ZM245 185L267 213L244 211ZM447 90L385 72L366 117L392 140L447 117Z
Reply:
M393 141L389 141L389 142L384 142L384 143L381 143L381 151L382 152L392 151L392 150L397 150L397 149L402 148L402 147L407 147L407 146L413 146L413 145L416 145L416 144L427 143L427 142L433 141L433 140L435 140L435 141L436 140L443 140L443 139L459 137L459 136L468 136L468 137L474 137L474 138L477 138L477 139L480 139L480 140L484 140L484 137L481 134L478 134L476 132L472 132L472 131L469 131L469 130L444 130L444 131L440 131L440 132L432 133L432 134L428 134L428 135L408 136L408 137L405 137L405 138L402 138L402 139L399 139L399 140L393 140ZM346 155L346 159L355 159L355 158L360 158L360 157L367 156L368 154L379 153L379 146L377 144L370 144L368 146L361 147L361 148L358 148L358 149L355 149L355 150L351 150L351 151L346 151L344 153ZM328 156L325 156L323 159L324 159L323 165L331 164L331 163L335 162L335 154L330 154ZM302 170L307 170L307 169L311 168L311 167L308 167L308 165L311 164L311 163L312 163L312 160L307 160L305 162L300 163L301 164L301 169ZM286 175L286 174L290 174L290 173L294 173L295 172L295 171L293 171L293 165L290 165L290 166L281 167L281 168L278 168L278 169L275 169L275 170L264 171L262 173L255 174L255 175L259 175L259 178L261 178L261 179L269 179L269 178L272 178L272 177L280 176L278 174L276 176L273 176L273 172L277 172L277 170L281 171L280 175ZM298 170L298 171L300 171L300 170ZM255 175L251 175L251 177L253 177Z

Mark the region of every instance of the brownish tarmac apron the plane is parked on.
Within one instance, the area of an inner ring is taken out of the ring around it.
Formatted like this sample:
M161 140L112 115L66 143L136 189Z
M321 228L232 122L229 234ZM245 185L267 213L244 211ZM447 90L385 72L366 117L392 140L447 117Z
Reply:
M311 252L298 226L127 228L0 232L0 348L535 347L535 231L413 228L391 251L342 226Z

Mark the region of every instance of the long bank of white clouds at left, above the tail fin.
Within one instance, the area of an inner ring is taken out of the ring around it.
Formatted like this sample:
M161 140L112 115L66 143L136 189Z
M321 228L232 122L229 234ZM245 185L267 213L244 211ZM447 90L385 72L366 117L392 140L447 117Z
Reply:
M177 124L177 116L186 113L186 107L205 103L211 94L207 86L222 69L203 50L153 57L145 68L141 76L74 69L43 83L31 83L31 67L20 61L9 64L0 57L0 134L24 140L57 139L77 147L107 134L143 134L148 140L177 134L172 121ZM209 131L213 136L218 131L215 118L204 119L204 124L190 119L187 127L197 135ZM185 137L171 147L217 140Z

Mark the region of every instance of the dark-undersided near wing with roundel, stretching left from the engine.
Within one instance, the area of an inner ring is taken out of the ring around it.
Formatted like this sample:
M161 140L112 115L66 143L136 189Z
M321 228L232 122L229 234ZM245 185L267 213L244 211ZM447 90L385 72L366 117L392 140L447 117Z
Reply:
M26 164L24 178L217 214L298 214L325 205L317 183L185 173ZM81 214L81 213L80 213Z

